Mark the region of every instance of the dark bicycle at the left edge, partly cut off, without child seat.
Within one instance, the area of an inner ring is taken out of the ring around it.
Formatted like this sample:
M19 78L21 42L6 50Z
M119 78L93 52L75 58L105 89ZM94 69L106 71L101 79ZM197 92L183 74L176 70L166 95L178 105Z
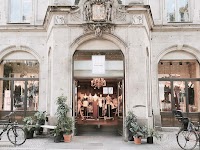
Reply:
M11 115L13 114L14 112L10 112L8 115L4 116L4 118L8 118L7 120L0 120L1 122L5 122L0 123L3 125L3 131L0 133L0 140L3 133L7 131L8 140L15 146L20 146L26 141L26 134L24 129L18 126L17 122L11 121Z

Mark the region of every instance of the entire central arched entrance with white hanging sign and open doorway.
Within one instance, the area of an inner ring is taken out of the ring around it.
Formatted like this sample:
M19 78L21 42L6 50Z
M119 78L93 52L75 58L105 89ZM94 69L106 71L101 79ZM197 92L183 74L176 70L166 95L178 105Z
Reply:
M112 42L91 40L73 55L76 134L123 134L124 55Z

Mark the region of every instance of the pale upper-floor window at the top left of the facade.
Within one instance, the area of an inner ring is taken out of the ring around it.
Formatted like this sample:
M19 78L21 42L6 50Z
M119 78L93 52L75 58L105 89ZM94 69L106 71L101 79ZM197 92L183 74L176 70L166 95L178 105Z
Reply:
M32 15L32 0L10 0L9 22L30 23Z

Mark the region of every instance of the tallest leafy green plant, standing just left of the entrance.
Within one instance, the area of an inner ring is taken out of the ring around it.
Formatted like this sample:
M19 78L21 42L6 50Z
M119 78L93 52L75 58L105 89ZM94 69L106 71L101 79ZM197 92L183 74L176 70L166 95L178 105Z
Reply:
M59 96L56 101L57 127L54 130L56 135L72 133L73 121L72 118L68 116L68 112L71 108L66 104L66 102L67 97L63 95Z

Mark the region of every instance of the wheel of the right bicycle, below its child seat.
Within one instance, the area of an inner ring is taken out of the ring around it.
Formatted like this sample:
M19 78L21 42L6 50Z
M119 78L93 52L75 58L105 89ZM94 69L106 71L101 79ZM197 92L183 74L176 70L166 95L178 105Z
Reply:
M198 142L197 134L194 131L180 130L176 136L178 145L184 150L192 150Z

